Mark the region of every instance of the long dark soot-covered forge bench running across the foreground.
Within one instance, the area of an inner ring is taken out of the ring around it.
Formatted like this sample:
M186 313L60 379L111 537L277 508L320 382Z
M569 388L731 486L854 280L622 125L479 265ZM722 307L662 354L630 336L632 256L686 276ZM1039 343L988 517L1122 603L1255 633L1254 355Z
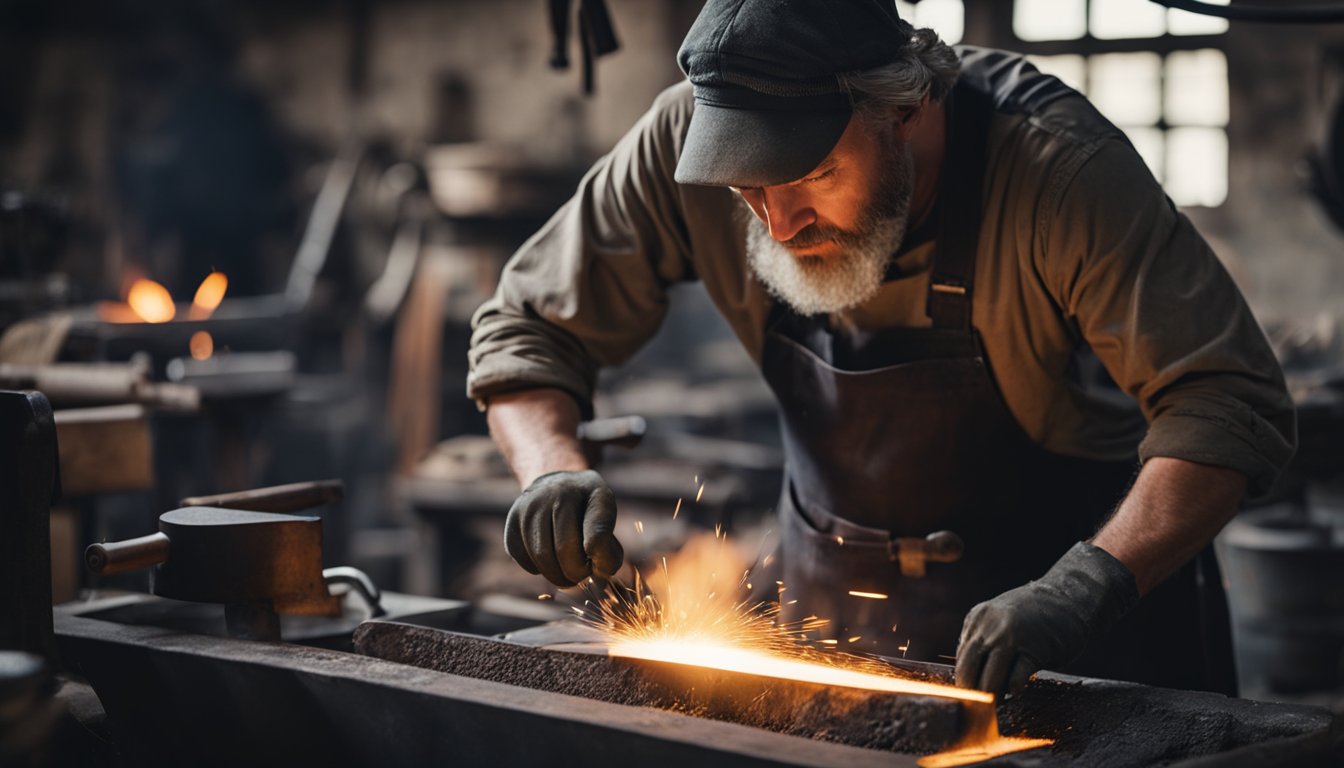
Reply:
M352 654L99 611L58 608L56 642L136 764L915 768L980 728L960 701L609 658L554 633L539 647L375 620ZM950 671L900 667L938 683ZM1005 736L1054 742L980 764L1324 767L1344 755L1339 720L1312 706L1042 674L996 709Z

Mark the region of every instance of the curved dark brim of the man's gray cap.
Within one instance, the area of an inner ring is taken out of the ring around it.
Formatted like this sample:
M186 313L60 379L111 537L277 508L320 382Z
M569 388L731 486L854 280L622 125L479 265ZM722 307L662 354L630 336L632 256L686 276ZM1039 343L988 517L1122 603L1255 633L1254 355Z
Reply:
M679 184L769 187L806 176L849 125L849 109L758 110L696 102Z

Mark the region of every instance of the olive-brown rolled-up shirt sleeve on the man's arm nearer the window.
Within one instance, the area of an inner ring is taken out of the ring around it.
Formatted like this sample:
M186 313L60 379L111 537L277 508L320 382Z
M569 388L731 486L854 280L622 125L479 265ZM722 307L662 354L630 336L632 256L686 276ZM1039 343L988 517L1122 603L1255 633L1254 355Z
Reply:
M1231 276L1122 140L1056 190L1043 272L1148 418L1140 459L1236 469L1267 492L1293 455L1293 402Z

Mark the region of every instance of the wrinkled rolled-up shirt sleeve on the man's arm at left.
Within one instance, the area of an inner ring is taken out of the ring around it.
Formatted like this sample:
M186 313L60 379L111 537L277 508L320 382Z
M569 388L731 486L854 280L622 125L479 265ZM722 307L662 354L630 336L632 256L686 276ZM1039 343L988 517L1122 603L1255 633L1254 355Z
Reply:
M672 180L684 98L669 89L509 260L472 319L468 395L558 387L590 412L597 371L634 354L692 278Z

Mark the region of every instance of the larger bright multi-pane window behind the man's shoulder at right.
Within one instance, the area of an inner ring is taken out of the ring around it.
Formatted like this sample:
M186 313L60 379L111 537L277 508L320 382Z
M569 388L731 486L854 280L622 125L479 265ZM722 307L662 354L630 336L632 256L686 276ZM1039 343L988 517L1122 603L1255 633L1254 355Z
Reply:
M1224 19L1149 0L1013 5L1013 32L1031 61L1087 94L1180 206L1227 198L1226 31Z

